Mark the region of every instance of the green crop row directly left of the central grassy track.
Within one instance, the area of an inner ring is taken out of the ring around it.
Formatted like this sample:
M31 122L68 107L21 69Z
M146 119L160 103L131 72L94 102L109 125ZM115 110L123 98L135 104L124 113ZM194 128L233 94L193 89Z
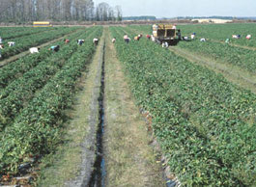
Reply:
M81 71L91 62L94 38L100 38L96 28L78 48L65 66L29 101L14 124L0 138L0 175L16 174L18 166L30 157L43 156L61 143L64 110L71 105L75 84Z

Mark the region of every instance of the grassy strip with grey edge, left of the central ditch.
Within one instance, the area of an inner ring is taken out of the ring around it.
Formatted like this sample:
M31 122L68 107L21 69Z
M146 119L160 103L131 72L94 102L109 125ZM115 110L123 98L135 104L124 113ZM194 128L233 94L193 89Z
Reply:
M42 167L39 186L88 186L96 159L103 38L80 79L75 104L68 111L71 120L66 124L65 144L43 163L47 167Z

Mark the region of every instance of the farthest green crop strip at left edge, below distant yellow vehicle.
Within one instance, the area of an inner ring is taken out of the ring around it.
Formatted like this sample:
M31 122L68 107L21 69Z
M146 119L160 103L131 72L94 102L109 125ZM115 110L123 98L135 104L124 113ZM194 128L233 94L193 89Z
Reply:
M28 35L33 35L33 34L38 34L42 33L44 31L52 31L52 30L57 30L59 28L57 27L48 27L48 28L31 28L31 27L26 27L22 30L16 31L15 27L9 28L6 32L2 32L2 28L0 28L0 37L5 41L8 42L9 40L15 40L16 38L19 37L24 37ZM12 32L14 30L14 32Z

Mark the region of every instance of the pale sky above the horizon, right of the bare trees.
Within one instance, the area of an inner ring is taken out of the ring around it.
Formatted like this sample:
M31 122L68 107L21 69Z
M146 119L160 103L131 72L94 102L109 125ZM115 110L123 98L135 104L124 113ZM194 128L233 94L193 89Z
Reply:
M124 16L256 16L256 0L94 0L96 4L120 5Z

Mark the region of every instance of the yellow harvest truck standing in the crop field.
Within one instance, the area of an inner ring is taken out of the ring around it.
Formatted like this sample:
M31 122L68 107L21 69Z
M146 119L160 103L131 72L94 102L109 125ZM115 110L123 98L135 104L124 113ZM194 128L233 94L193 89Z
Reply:
M158 43L168 42L170 45L179 41L176 37L176 26L171 24L154 24L153 37Z

